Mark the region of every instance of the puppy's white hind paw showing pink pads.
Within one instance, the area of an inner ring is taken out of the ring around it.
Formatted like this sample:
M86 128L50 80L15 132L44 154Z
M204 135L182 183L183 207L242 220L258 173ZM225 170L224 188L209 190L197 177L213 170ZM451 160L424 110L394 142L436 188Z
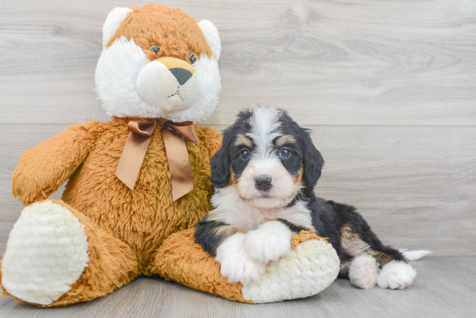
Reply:
M357 256L349 268L352 285L358 288L373 287L377 280L377 263L371 255Z

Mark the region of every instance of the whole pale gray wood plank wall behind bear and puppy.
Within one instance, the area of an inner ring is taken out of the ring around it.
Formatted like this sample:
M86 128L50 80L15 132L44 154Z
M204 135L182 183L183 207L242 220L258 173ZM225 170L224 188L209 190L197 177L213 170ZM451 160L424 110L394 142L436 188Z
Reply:
M22 151L87 117L102 23L147 1L1 0L0 252ZM476 1L170 1L221 34L224 128L279 106L326 159L318 195L354 204L387 244L476 255ZM59 194L55 194L58 198Z

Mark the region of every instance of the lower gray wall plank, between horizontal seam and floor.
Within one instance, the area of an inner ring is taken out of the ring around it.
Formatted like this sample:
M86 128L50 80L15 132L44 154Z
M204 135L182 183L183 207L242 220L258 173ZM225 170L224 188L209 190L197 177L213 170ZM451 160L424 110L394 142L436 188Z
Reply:
M22 209L10 193L21 152L66 127L0 124L0 252ZM355 205L386 244L476 255L476 127L306 127L326 160L318 196Z

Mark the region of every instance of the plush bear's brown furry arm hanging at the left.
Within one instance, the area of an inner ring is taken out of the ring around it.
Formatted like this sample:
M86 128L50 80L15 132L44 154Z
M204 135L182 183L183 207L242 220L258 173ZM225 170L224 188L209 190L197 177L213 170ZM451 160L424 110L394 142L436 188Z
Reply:
M25 205L47 199L83 163L102 130L99 121L72 125L23 152L13 172L13 195Z

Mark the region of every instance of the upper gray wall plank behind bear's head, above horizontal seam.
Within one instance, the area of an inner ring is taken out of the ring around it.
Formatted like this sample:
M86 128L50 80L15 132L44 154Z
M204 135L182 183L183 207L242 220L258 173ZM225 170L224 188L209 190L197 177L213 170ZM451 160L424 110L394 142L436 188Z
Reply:
M102 23L142 4L3 1L0 122L107 119L93 91ZM263 104L307 125L476 125L475 1L170 4L221 34L221 109L209 124Z

